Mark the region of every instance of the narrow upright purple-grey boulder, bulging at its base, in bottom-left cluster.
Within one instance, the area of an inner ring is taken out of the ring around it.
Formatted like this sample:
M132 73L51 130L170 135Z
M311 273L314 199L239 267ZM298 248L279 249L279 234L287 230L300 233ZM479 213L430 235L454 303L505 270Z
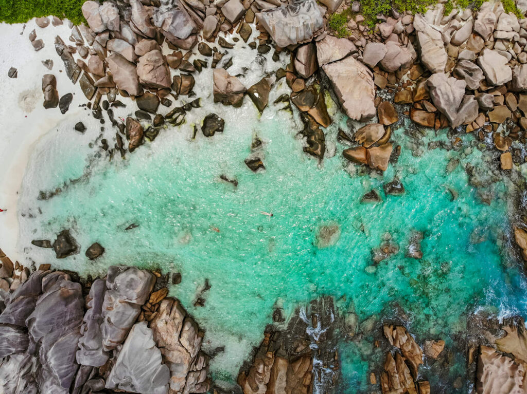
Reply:
M82 337L79 340L79 350L76 352L76 360L80 365L100 367L108 361L108 352L103 349L101 334L105 292L105 280L96 279L90 288L90 295L86 302L88 310L84 315L81 326Z

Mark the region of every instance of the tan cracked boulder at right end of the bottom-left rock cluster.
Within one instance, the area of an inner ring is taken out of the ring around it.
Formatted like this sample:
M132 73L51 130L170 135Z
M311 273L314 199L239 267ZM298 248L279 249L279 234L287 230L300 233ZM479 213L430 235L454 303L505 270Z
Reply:
M203 333L180 302L171 298L161 301L150 327L163 361L170 369L170 390L176 393L207 391L208 360L199 353ZM191 371L199 373L190 375ZM186 387L192 390L184 390Z

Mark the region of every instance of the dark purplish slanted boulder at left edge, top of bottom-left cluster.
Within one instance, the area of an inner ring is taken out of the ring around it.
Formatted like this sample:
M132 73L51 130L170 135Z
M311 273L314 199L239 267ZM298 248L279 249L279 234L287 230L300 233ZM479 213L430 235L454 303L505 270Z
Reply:
M35 309L36 300L42 294L42 278L50 271L37 270L18 288L8 294L0 323L26 326L26 319Z

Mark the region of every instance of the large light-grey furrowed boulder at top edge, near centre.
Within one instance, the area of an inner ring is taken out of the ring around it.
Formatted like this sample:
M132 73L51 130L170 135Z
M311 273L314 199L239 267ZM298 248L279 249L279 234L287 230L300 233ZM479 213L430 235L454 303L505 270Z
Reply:
M268 9L256 17L280 47L311 41L324 28L323 15L314 0Z

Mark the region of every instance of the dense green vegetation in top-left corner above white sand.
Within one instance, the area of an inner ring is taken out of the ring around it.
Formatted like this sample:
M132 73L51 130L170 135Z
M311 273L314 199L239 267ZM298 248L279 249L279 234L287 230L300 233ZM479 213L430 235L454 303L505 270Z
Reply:
M80 24L85 21L82 3L84 0L0 0L0 22L23 23L34 17L55 15Z

